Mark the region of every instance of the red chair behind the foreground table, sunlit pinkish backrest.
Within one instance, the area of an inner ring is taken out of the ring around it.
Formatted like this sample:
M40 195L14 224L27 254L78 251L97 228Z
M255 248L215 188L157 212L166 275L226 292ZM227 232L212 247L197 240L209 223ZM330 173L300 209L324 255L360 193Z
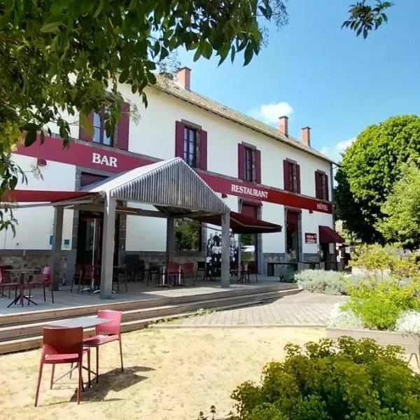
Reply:
M109 322L96 325L96 335L86 338L83 345L86 347L95 347L97 356L96 379L99 381L99 346L102 344L110 343L113 341L120 342L120 358L121 358L121 371L124 372L123 365L123 346L121 343L121 316L123 313L120 311L98 311L98 318L109 319Z

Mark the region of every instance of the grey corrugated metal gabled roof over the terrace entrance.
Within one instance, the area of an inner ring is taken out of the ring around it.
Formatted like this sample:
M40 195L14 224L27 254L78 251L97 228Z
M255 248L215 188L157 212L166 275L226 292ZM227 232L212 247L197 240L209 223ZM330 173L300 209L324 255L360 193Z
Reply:
M230 211L221 197L181 158L138 167L86 186L83 190L160 207L214 214Z

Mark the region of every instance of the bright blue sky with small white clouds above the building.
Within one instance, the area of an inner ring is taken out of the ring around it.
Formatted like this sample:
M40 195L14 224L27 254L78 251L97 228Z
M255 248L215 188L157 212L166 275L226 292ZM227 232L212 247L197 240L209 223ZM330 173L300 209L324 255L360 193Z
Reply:
M193 70L192 90L273 125L288 113L290 134L309 125L311 145L338 159L367 125L420 114L420 1L394 2L388 25L366 40L341 29L352 0L288 0L289 25L270 28L248 66L179 59Z

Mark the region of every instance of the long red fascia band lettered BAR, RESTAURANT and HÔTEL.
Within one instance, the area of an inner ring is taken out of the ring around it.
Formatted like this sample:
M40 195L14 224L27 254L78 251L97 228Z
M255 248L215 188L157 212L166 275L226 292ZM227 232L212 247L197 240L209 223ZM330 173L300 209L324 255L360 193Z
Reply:
M39 141L36 141L29 147L20 146L16 153L113 173L129 171L157 161L153 158L143 158L134 153L120 151L117 148L98 147L82 141L71 142L69 148L63 149L62 140L53 137L45 137L45 142L42 145ZM297 209L332 214L332 204L330 202L288 193L276 188L255 186L253 183L227 178L221 174L211 174L200 170L197 172L217 193L235 195L244 200L271 202Z

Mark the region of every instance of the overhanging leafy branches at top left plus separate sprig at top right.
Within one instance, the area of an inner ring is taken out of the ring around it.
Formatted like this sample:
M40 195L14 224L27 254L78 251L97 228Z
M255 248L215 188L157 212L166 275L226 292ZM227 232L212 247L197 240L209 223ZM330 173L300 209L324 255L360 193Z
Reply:
M363 35L386 21L388 1L358 1L344 27ZM144 102L146 85L177 48L194 59L238 55L248 64L266 34L288 15L281 0L0 0L0 197L24 174L10 151L43 141L55 123L64 146L69 118L106 108L113 132L120 118L119 83L130 83ZM67 116L67 118L64 118ZM48 131L48 130L47 130ZM0 229L7 227L0 210Z

